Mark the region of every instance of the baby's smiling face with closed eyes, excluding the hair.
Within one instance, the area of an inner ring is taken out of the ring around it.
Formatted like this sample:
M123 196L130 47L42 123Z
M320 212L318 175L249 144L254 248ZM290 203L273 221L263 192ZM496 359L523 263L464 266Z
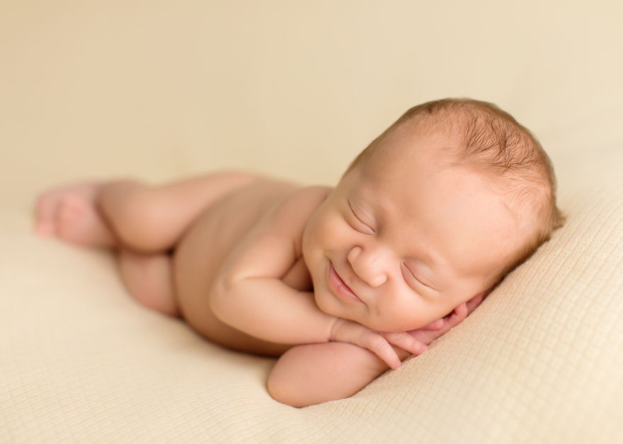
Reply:
M496 284L520 243L515 218L486 177L435 160L447 143L390 136L312 216L303 255L321 310L407 331Z

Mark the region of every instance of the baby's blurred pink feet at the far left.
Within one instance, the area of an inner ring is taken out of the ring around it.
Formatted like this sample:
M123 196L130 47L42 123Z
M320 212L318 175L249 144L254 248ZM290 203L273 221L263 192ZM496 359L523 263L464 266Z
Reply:
M96 206L100 185L79 183L52 189L37 200L35 230L70 243L112 246L113 235Z

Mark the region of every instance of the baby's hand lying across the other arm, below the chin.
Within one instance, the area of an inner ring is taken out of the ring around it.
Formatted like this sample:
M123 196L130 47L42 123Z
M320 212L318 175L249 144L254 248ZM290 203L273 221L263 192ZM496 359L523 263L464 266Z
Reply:
M358 322L341 318L337 318L333 322L329 340L348 342L363 349L368 349L394 369L401 366L401 361L392 345L414 355L423 354L428 350L428 346L423 344L416 335L409 332L377 332L358 324Z

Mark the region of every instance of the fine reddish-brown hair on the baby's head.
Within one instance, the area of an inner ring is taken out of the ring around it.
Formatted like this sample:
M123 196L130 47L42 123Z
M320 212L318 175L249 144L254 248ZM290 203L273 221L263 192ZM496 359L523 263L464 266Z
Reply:
M530 257L564 224L565 218L556 206L554 168L539 141L508 112L480 100L448 98L412 107L355 158L347 173L389 134L407 125L412 132L444 134L456 141L457 146L438 153L440 161L467 165L493 177L496 189L512 197L518 208L515 216L531 215L532 232L502 276Z

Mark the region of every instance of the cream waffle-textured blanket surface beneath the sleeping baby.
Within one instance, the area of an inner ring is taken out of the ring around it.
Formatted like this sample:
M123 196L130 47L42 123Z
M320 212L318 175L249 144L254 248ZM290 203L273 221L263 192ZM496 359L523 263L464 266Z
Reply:
M623 192L564 201L567 226L427 354L299 410L266 393L270 359L143 310L110 255L2 214L0 440L607 442L623 413Z

